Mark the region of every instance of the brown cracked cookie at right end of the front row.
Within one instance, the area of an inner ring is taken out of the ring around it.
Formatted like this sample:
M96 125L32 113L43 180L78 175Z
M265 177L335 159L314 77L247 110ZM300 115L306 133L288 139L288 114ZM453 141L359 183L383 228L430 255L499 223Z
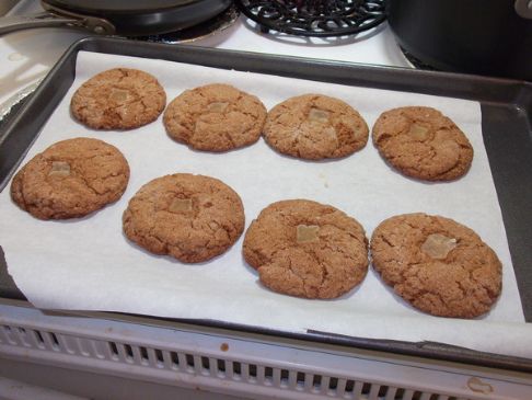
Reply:
M452 219L406 214L381 222L371 237L374 270L421 311L474 318L489 311L501 290L497 254Z

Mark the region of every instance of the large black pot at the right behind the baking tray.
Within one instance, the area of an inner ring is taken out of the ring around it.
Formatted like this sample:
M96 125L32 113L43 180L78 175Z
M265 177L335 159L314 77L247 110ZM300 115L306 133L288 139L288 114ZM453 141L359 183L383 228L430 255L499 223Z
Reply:
M389 0L388 20L398 44L437 69L532 81L529 0Z

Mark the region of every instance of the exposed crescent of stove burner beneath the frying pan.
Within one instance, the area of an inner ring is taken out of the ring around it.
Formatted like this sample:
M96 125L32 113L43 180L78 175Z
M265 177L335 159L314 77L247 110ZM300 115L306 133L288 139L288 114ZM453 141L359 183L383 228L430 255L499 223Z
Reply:
M234 24L239 19L240 11L236 5L231 4L225 11L216 15L215 18L201 22L198 25L187 27L182 31L164 33L160 35L149 35L149 36L135 36L129 37L131 39L164 43L164 44L177 44L199 41L201 38L215 35L216 33L227 30L229 26Z

